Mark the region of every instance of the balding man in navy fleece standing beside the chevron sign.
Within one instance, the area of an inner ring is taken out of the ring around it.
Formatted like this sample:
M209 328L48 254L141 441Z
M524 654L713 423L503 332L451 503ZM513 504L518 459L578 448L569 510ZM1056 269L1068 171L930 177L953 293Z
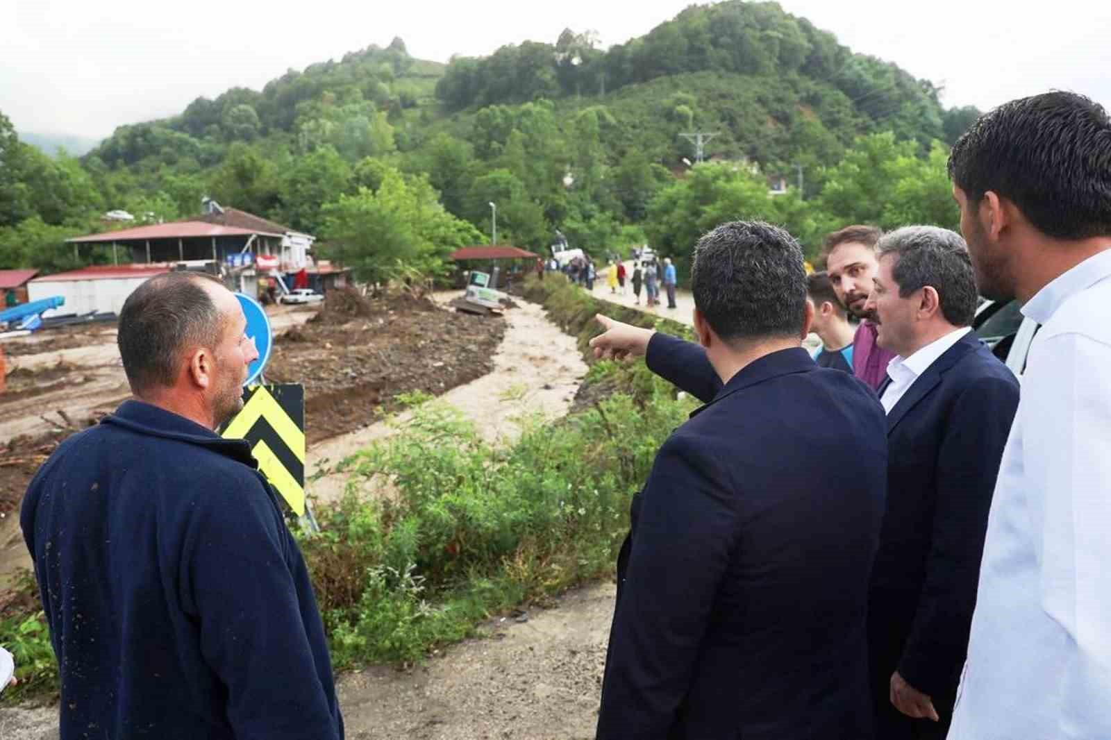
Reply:
M61 739L341 739L308 571L247 442L236 297L151 278L123 304L137 400L66 440L21 524L61 671Z

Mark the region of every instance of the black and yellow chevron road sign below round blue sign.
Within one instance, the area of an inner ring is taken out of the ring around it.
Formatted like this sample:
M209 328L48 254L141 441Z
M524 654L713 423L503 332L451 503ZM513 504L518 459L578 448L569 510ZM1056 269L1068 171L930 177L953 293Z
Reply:
M243 408L223 430L246 439L259 470L298 517L304 516L304 386L251 386Z

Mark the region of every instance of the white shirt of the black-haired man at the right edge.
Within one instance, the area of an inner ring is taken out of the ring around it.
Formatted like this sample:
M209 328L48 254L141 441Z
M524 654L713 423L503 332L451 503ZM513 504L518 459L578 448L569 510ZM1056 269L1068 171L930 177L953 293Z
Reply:
M1111 251L1045 286L949 740L1111 738Z

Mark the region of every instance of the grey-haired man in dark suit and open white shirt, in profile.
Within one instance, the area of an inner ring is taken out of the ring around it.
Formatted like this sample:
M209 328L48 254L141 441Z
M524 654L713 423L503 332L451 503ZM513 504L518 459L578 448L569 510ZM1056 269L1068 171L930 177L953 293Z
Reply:
M875 317L877 343L895 357L879 389L888 498L869 588L875 736L940 740L1019 384L971 333L977 289L959 234L907 227L877 247L864 309Z

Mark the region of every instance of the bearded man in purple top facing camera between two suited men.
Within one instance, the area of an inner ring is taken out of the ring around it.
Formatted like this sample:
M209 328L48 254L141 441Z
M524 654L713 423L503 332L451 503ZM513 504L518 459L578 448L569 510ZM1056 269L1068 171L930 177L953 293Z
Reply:
M883 234L872 226L850 226L825 237L823 251L830 284L841 304L860 326L852 340L852 372L872 390L878 390L887 378L888 363L894 352L875 342L875 318L868 310L868 294L872 290L878 261L875 244Z

